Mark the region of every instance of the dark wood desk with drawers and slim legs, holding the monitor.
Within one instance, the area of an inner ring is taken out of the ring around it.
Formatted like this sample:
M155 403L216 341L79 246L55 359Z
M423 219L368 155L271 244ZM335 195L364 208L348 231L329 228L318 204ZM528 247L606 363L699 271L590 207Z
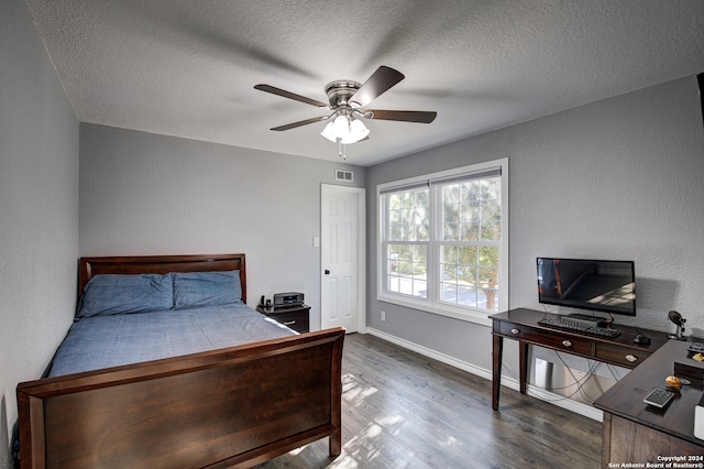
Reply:
M495 411L498 410L504 338L519 342L518 361L521 394L526 393L529 345L632 369L668 341L666 332L640 329L640 332L649 337L651 342L647 346L634 343L634 337L638 334L636 329L620 325L613 326L622 331L620 336L616 338L587 336L541 326L538 324L538 319L543 317L559 318L560 316L526 308L512 309L490 316L493 320L492 407Z

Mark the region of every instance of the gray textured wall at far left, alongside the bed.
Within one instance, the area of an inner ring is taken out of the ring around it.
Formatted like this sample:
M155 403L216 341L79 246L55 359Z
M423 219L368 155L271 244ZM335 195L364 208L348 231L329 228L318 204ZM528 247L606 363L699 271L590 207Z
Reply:
M0 467L15 386L40 378L76 304L78 120L22 0L0 2Z

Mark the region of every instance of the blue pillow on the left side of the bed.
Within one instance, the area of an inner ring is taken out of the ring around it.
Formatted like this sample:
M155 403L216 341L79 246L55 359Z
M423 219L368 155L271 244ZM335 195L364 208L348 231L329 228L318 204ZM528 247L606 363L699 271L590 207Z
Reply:
M172 274L96 275L84 287L76 317L170 309Z

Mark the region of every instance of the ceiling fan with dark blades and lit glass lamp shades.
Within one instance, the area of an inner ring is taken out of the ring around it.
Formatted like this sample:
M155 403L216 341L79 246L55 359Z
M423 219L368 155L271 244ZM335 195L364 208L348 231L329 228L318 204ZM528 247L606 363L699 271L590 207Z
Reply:
M332 119L321 133L326 139L340 145L355 143L369 137L369 129L360 118L376 120L395 120L402 122L430 123L438 114L435 111L392 111L384 109L362 109L386 92L394 85L405 78L404 74L391 67L382 65L372 76L360 84L352 80L336 80L326 86L329 103L306 98L271 85L256 85L254 89L283 96L296 101L305 102L320 109L332 111L326 116L319 116L286 126L275 127L272 130L283 131L309 123ZM342 154L342 153L341 153Z

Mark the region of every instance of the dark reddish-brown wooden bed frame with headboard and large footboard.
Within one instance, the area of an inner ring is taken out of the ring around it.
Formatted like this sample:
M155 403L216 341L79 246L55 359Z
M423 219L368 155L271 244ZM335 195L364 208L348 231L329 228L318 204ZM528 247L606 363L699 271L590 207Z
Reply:
M84 258L92 275L240 270L244 254ZM344 329L18 385L22 468L250 467L329 436L340 455Z

